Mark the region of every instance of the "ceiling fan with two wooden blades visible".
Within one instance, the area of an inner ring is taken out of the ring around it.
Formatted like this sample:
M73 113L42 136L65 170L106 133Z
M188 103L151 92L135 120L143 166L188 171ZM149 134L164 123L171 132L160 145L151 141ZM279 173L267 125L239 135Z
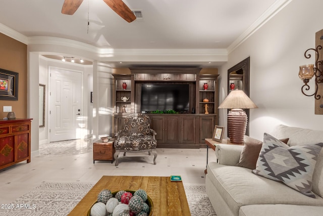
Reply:
M62 14L73 15L80 7L83 0L65 0L62 8ZM121 16L127 22L132 22L136 16L122 0L103 0L112 10Z

